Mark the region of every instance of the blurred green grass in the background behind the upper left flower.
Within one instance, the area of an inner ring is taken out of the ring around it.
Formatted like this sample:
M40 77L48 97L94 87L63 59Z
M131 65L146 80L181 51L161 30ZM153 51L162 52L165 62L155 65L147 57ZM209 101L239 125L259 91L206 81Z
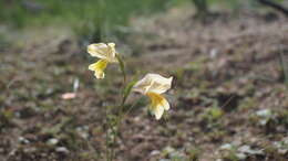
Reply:
M90 41L126 25L130 18L161 11L176 0L0 0L0 23L22 29L60 24Z

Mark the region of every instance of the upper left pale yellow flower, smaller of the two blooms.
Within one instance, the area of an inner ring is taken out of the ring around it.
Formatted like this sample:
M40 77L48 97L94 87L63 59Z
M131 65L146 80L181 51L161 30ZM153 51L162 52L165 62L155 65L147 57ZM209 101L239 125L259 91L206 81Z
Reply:
M97 44L90 44L88 46L88 53L91 56L100 58L96 63L93 63L89 66L90 71L95 72L96 78L104 78L104 69L107 66L107 63L117 63L116 58L116 50L114 43L97 43Z

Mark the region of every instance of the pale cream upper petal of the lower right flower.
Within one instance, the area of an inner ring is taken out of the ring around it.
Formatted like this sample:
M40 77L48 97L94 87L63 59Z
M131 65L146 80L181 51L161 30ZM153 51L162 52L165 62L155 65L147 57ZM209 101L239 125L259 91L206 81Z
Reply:
M146 74L143 79L135 84L134 90L142 94L163 94L171 88L172 79L173 77L166 78L158 74Z

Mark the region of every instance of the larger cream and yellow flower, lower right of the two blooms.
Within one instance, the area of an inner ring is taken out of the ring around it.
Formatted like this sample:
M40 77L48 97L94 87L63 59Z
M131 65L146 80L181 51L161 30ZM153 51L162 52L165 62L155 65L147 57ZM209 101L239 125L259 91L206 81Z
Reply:
M165 78L158 74L146 74L133 87L134 92L150 97L150 110L155 115L156 119L161 119L164 110L169 109L168 101L161 94L171 88L172 79L173 77Z

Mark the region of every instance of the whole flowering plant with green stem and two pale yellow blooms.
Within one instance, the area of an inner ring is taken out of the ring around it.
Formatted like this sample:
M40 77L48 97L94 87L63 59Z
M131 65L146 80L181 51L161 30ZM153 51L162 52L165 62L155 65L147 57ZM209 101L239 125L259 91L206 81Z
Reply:
M115 147L116 139L120 136L120 125L125 116L128 115L133 106L127 107L126 100L131 92L137 92L151 99L151 105L148 109L156 119L161 119L165 110L169 109L169 104L162 94L171 88L173 77L166 78L158 74L146 74L144 78L138 82L131 80L127 83L125 63L115 50L114 43L96 43L88 46L88 53L91 56L97 57L99 61L89 66L90 71L94 72L97 79L103 79L105 77L105 68L107 64L119 64L122 76L123 86L120 93L121 100L119 105L106 107L106 160L112 161L115 159ZM138 101L135 100L135 104Z

